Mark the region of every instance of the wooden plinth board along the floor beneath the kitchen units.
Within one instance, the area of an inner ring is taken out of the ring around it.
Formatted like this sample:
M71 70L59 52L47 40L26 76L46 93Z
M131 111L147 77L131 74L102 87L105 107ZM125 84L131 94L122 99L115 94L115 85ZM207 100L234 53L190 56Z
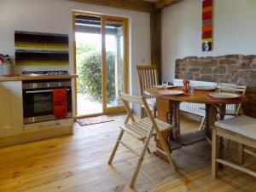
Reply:
M73 126L64 126L60 128L31 132L11 137L0 138L0 148L12 146L15 144L30 143L52 137L60 137L73 134Z

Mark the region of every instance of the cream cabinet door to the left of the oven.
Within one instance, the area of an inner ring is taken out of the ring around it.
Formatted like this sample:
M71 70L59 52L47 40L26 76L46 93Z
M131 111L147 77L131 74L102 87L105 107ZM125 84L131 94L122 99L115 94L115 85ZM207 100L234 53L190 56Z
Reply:
M0 83L0 137L23 132L21 81Z

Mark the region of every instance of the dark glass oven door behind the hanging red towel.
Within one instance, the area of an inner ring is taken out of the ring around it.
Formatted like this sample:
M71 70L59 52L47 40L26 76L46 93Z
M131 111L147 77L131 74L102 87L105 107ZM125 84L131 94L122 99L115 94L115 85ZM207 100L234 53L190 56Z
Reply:
M54 88L53 88L54 89ZM60 87L58 87L60 89ZM67 89L67 118L72 117L72 91ZM52 90L23 90L24 124L55 120L52 102Z

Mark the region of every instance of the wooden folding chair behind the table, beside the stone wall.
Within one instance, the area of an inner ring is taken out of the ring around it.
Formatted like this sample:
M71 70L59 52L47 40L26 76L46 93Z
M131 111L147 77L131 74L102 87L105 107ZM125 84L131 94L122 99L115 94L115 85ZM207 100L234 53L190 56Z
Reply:
M221 90L227 91L227 92L239 93L242 96L244 96L246 93L246 90L247 90L247 86L246 85L236 85L236 84L222 84ZM218 105L216 106L216 108L218 110L218 113L220 113L221 109L219 108ZM230 115L230 116L237 116L237 115L241 115L241 114L242 114L241 103L237 104L235 106L235 110L226 109L226 111L224 113L224 115ZM205 121L206 121L206 116L204 116L203 119L201 120L201 125L199 128L200 131L203 129L203 126L205 125Z

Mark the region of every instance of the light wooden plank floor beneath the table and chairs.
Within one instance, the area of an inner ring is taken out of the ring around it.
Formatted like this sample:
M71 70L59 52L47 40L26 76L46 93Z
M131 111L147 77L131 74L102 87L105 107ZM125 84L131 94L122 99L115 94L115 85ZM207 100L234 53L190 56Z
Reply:
M113 166L107 164L124 116L114 119L87 127L76 125L73 136L0 148L0 191L134 191L127 183L136 166L136 155L120 147ZM194 121L182 119L183 132L196 130L198 126ZM137 149L142 147L129 136L125 140ZM227 157L234 157L235 147L231 146ZM256 191L255 177L228 167L219 172L218 179L213 179L211 146L207 142L179 149L173 156L178 172L173 172L171 166L154 154L147 154L135 191ZM255 161L247 160L248 165Z

